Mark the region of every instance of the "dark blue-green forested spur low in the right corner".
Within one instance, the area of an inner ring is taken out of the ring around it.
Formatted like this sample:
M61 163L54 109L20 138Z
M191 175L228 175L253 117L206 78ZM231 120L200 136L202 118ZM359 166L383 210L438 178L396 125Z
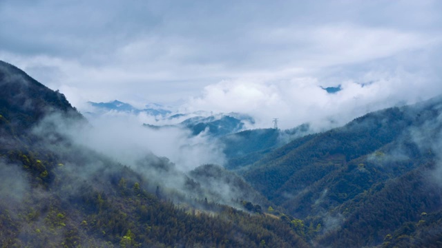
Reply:
M394 180L377 183L340 206L337 212L343 216L342 227L325 234L320 242L336 247L378 245L389 234L401 231L403 225L417 225L422 213L440 211L440 186L427 183L425 175L433 166L425 165Z

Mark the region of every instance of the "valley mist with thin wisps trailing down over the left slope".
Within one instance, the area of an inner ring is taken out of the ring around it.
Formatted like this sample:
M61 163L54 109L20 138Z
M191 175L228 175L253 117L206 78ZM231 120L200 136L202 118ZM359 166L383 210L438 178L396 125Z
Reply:
M66 162L63 171L76 176L71 178L74 181L70 185L94 181L100 175L106 178L108 174L118 174L115 164L119 164L144 178L140 180L146 182L151 193L160 187L161 195L175 198L178 203L193 198L238 208L240 200L267 204L242 178L222 167L223 145L204 132L193 136L180 127L152 129L142 125L140 116L122 112L95 116L88 123L72 123L52 114L32 132L42 138L42 147L86 161L82 165ZM55 142L60 135L64 145ZM106 162L109 158L112 163ZM79 191L72 190L67 194Z

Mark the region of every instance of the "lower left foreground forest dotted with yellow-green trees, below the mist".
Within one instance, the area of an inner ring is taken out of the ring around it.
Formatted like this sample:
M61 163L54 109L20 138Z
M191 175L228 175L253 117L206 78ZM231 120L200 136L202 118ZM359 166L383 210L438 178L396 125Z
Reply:
M42 160L37 163L32 155L26 157L35 161L35 165L51 164ZM53 175L52 182L37 178L30 194L23 198L26 204L20 209L12 213L8 204L0 204L3 244L21 247L38 244L50 247L173 247L175 244L259 247L265 240L267 245L274 247L307 247L290 225L259 214L258 205L252 205L258 213L254 215L198 199L178 207L146 190L146 179L139 181L135 172L110 161L106 161L106 165L114 167L114 172L95 172L93 184L83 182L81 185L70 184L75 175L70 174L66 166L60 169L55 166L57 162L52 164L46 168L50 169L48 174ZM118 178L120 175L123 176ZM74 186L79 190L71 192ZM36 195L41 190L45 192L44 198ZM197 211L194 205L204 205L204 209Z

